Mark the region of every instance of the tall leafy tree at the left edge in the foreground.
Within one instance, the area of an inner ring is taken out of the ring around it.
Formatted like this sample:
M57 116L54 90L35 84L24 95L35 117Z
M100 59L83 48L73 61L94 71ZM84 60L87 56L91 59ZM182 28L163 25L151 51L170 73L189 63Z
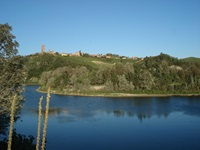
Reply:
M17 110L23 102L21 93L25 73L17 56L19 44L11 31L12 27L8 24L0 24L0 115L10 112L14 95L17 96Z

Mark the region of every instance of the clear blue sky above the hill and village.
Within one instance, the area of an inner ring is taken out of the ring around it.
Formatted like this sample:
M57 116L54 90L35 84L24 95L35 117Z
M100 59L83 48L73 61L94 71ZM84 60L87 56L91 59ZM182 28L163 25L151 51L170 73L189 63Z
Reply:
M200 0L2 0L19 54L200 57Z

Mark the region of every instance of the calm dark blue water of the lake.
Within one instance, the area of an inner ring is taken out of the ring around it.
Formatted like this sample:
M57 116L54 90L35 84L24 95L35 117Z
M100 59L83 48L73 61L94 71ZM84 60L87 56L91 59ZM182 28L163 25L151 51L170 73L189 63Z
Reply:
M37 137L36 86L26 88L18 133ZM44 105L43 105L44 107ZM47 150L200 150L200 97L51 95Z

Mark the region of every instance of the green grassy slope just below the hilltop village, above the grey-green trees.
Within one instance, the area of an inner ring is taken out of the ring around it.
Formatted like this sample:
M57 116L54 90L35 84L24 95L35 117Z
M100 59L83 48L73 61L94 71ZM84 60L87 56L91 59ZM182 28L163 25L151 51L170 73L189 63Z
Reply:
M27 83L39 84L36 78L40 78L43 72L52 71L57 68L71 67L77 68L84 66L89 71L97 71L99 68L109 68L116 63L134 63L132 59L116 58L97 58L97 57L78 57L78 56L61 56L49 53L33 54L22 57L27 71ZM34 81L33 81L34 80Z

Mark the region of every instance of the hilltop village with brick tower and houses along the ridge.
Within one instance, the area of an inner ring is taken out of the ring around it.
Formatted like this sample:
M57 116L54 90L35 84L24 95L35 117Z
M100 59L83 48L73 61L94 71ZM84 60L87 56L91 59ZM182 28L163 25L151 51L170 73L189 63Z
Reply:
M144 60L144 58L138 58L136 56L133 57L127 57L127 56L119 56L117 54L107 53L105 55L103 54L88 54L84 53L81 50L75 53L58 53L53 50L45 51L45 45L42 45L41 53L49 53L53 55L61 55L61 56L78 56L78 57L96 57L96 58L115 58L115 59L133 59L133 60Z

